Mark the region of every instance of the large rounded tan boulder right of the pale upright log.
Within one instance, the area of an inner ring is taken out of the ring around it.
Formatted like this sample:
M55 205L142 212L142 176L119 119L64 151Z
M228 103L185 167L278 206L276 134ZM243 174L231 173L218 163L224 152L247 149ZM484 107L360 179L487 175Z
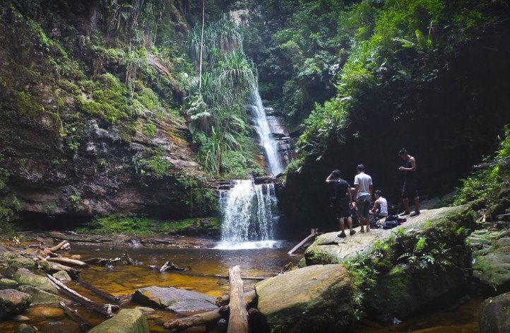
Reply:
M271 332L337 332L352 320L352 284L340 264L289 271L255 291Z

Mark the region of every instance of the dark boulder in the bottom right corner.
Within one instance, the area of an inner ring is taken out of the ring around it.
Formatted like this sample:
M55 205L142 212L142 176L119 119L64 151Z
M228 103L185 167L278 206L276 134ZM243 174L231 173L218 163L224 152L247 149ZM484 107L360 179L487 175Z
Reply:
M510 293L487 298L480 307L481 333L510 332Z

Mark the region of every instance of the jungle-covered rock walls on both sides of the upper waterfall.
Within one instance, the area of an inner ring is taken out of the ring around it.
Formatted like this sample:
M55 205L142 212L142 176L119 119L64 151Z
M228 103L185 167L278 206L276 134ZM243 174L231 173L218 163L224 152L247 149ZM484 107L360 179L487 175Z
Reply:
M509 11L504 0L4 1L0 215L213 215L203 181L264 173L244 107L255 89L299 137L285 221L328 223L323 178L340 168L352 181L357 163L398 201L404 146L424 197L451 192L505 140ZM458 203L501 183L506 150Z

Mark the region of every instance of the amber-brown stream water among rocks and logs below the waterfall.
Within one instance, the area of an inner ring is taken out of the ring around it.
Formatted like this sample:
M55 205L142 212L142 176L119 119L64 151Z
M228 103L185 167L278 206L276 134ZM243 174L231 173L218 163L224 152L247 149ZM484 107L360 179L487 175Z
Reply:
M114 296L131 294L138 288L145 286L174 286L177 288L189 289L210 296L220 296L228 293L229 286L227 279L218 277L202 276L202 274L227 275L228 268L239 264L242 274L245 276L271 276L279 271L288 262L297 263L300 255L287 255L291 244L285 244L281 248L255 249L255 250L216 250L216 249L162 249L162 248L137 248L129 249L132 259L143 262L139 266L127 266L118 264L114 269L107 267L91 266L83 269L79 281L86 282L97 288L108 291ZM73 246L71 255L81 255L83 259L90 257L121 257L125 249L105 247L78 247ZM191 266L189 273L179 274L174 272L159 273L147 269L150 264L161 266L170 260L182 267ZM256 281L245 281L245 287L253 286ZM90 293L85 288L77 286L74 282L68 284L84 296L105 303L99 297ZM453 332L479 332L478 331L478 308L481 300L473 298L468 303L461 305L454 310L432 310L422 312L413 317L406 318L399 325L381 325L379 323L364 320L353 327L352 332L430 332L430 333L453 333ZM141 306L135 303L124 303L122 308L134 308ZM71 305L71 308L78 309L78 312L88 319L91 324L97 325L104 317L98 316L79 305ZM57 311L52 318L42 318L37 308L28 310L23 315L30 317L28 322L34 325L42 333L78 333L81 332L75 322ZM162 323L177 317L165 310L157 310L148 315L151 332L167 332ZM0 332L14 332L19 322L0 322ZM189 329L186 332L206 332L204 328ZM226 327L217 327L214 332L226 332Z

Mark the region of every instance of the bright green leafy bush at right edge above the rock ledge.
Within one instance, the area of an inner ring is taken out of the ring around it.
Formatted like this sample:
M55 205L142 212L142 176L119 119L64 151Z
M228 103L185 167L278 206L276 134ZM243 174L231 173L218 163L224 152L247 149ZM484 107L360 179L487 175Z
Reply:
M465 204L476 199L492 201L510 179L510 127L505 128L504 139L493 158L485 158L480 168L463 180L455 195L454 204Z

